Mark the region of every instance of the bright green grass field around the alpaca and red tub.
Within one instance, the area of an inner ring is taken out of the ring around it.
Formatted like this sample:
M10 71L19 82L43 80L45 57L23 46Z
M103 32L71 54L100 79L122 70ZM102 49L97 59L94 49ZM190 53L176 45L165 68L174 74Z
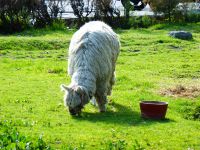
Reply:
M191 31L193 40L168 36L177 29ZM74 32L0 36L0 137L7 120L27 137L25 142L28 137L37 142L42 135L52 149L200 149L199 119L188 117L192 110L199 113L200 96L160 94L180 84L200 86L199 24L117 30L121 53L108 112L101 114L88 104L80 118L66 111L59 88L70 83L66 58ZM140 100L169 102L166 119L142 119Z

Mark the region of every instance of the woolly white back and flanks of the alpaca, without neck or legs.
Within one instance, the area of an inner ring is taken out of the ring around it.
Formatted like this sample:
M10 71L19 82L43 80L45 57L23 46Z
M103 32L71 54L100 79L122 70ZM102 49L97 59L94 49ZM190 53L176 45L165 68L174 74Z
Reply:
M104 79L112 73L119 54L119 40L113 30L100 21L85 24L72 37L68 73L85 69Z

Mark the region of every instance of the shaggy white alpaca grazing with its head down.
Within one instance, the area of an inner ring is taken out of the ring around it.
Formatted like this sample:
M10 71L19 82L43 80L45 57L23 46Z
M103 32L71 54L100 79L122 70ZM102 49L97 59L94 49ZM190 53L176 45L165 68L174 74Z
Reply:
M69 86L61 85L65 91L64 104L71 115L80 114L93 96L100 112L106 111L119 49L118 36L100 21L86 23L73 35L68 60L68 74L72 79Z

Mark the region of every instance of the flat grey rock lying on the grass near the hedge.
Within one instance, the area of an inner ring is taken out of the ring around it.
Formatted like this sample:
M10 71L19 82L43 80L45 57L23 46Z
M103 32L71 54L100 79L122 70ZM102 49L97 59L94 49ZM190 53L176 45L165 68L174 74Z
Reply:
M192 34L186 31L171 31L169 32L169 36L182 39L182 40L191 40Z

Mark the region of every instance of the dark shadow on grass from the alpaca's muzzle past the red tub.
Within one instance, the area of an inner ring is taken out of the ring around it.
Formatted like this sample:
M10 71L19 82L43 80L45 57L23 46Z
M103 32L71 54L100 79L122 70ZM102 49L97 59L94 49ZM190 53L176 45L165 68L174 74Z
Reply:
M156 122L168 123L172 120L151 120L141 117L140 112L134 111L131 107L112 102L108 104L108 110L104 113L82 112L81 117L76 117L78 120L88 120L90 122L98 123L104 122L106 124L119 124L125 126L138 126L138 125L152 125Z

